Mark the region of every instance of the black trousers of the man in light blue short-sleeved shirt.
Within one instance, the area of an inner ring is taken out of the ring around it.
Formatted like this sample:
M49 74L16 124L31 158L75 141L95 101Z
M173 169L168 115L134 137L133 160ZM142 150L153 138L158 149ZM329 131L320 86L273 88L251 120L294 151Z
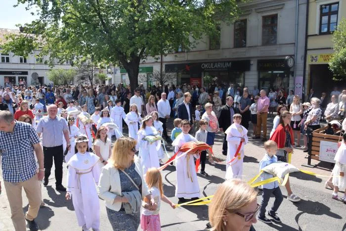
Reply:
M64 160L62 145L55 147L44 147L43 146L43 155L44 155L44 178L48 179L50 176L50 169L55 166L55 184L61 185L62 183L62 162Z

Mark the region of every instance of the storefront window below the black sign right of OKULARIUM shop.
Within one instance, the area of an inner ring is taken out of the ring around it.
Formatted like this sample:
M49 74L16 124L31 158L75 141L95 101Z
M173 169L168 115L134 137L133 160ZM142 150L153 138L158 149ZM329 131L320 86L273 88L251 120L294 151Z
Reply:
M290 84L289 71L262 71L259 72L259 89L264 89L267 94L270 88L275 92L280 91L282 88L287 93Z

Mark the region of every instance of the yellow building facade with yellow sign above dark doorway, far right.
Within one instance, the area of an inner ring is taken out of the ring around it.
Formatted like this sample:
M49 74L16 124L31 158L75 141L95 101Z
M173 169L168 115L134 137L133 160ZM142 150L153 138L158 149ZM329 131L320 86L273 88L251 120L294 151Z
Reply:
M334 53L332 33L346 17L346 2L309 0L308 8L305 84L320 96L322 92L329 94L334 87L346 87L345 83L333 81L328 65Z

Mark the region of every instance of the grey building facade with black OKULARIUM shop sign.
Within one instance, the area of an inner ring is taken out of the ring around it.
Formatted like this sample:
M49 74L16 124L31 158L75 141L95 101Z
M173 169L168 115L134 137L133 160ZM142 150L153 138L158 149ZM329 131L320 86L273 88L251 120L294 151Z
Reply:
M203 77L211 76L219 84L302 94L306 0L253 0L241 9L234 24L220 23L219 38L205 36L190 51L148 57L141 67L175 73L173 84L203 86ZM126 80L122 75L118 79Z

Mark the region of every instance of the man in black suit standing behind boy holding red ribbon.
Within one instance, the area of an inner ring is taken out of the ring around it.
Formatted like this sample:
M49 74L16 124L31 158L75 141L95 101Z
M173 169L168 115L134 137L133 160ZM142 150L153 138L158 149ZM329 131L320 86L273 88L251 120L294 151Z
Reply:
M239 109L233 106L233 96L226 97L226 105L221 107L220 116L218 117L218 124L220 131L225 132L233 123L233 115L239 113ZM227 155L227 141L226 134L222 144L222 154Z

